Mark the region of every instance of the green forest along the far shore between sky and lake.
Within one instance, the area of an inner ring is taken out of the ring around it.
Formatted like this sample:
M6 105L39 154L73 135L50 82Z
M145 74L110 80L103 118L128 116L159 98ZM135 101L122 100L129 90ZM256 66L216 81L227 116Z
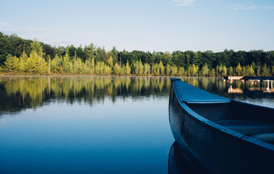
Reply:
M0 71L30 74L273 76L274 51L106 51L91 43L50 46L0 32Z

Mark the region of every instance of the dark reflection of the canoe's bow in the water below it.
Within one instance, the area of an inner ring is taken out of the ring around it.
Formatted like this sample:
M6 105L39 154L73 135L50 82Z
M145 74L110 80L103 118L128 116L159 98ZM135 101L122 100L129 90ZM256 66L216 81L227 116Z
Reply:
M198 170L185 157L182 149L178 146L176 141L172 144L168 155L168 173L184 173L195 174Z

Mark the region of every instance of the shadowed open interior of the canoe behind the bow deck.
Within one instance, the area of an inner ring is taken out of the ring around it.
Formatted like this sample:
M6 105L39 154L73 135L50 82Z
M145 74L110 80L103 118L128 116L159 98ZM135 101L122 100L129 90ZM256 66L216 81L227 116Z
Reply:
M274 116L271 108L233 100L230 103L187 104L187 106L200 116L232 131L247 136L257 135L254 138L257 137L256 139L259 140L265 139L265 134L268 134L268 138L263 141L274 143ZM264 138L260 139L260 137Z

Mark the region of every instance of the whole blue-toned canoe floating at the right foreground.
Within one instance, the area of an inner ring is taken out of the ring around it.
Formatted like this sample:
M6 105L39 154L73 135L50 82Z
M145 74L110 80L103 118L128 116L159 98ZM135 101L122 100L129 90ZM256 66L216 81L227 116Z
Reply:
M209 93L171 78L169 123L201 173L273 173L274 109Z

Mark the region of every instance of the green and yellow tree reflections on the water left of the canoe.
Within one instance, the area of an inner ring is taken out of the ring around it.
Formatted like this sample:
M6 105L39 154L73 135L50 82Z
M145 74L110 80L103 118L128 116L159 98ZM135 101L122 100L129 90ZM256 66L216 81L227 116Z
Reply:
M169 95L168 77L149 76L1 76L1 111L36 108L50 101L87 102L110 97L142 99Z

